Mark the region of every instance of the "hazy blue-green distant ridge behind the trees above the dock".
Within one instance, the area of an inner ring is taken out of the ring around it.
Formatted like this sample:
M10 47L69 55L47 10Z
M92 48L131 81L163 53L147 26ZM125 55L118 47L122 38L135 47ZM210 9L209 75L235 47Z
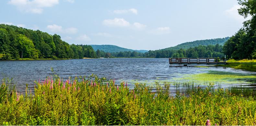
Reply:
M224 43L228 39L229 39L229 37L205 39L205 40L196 40L196 41L192 41L192 42L181 43L177 46L168 47L168 48L164 48L164 49L160 49L160 50L179 50L180 48L188 49L190 47L197 47L197 46L200 46L200 45L203 45L203 46L216 45L216 44L224 45Z

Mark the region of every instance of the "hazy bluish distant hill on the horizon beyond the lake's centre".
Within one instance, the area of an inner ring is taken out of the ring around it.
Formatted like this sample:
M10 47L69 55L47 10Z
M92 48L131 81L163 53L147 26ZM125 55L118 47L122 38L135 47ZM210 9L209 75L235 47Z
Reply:
M133 49L128 49L128 48L123 48L119 46L114 46L114 45L90 45L94 51L102 50L104 52L124 52L124 51L136 51L136 52L141 52L145 53L148 52L148 50L133 50Z

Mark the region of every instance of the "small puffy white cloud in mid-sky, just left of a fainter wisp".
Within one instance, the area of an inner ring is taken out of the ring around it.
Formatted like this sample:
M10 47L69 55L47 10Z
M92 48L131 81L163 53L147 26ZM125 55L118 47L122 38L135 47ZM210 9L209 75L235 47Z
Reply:
M127 27L130 26L130 23L123 18L115 18L115 19L106 19L102 22L105 26L119 26L119 27Z

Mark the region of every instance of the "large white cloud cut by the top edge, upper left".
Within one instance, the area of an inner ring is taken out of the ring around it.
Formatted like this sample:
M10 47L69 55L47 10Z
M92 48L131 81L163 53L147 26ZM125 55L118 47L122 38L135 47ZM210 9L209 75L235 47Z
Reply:
M41 14L43 8L57 5L59 0L10 0L8 3L20 11Z

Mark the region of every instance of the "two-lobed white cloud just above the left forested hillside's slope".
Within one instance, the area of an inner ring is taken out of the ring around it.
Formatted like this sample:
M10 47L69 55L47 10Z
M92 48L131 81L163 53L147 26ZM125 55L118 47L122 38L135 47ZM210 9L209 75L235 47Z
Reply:
M77 28L75 28L75 27L69 27L69 28L63 29L62 26L53 24L53 25L48 25L46 28L52 32L59 32L59 33L66 33L66 34L76 34L77 33Z

